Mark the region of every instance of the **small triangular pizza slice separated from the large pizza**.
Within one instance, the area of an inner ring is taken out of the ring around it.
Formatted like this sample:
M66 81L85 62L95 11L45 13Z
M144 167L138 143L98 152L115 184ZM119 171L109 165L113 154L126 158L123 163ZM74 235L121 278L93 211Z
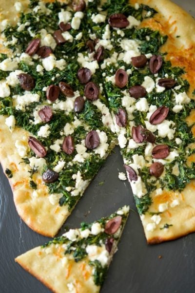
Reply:
M129 207L82 223L16 261L55 293L98 293L124 229Z

